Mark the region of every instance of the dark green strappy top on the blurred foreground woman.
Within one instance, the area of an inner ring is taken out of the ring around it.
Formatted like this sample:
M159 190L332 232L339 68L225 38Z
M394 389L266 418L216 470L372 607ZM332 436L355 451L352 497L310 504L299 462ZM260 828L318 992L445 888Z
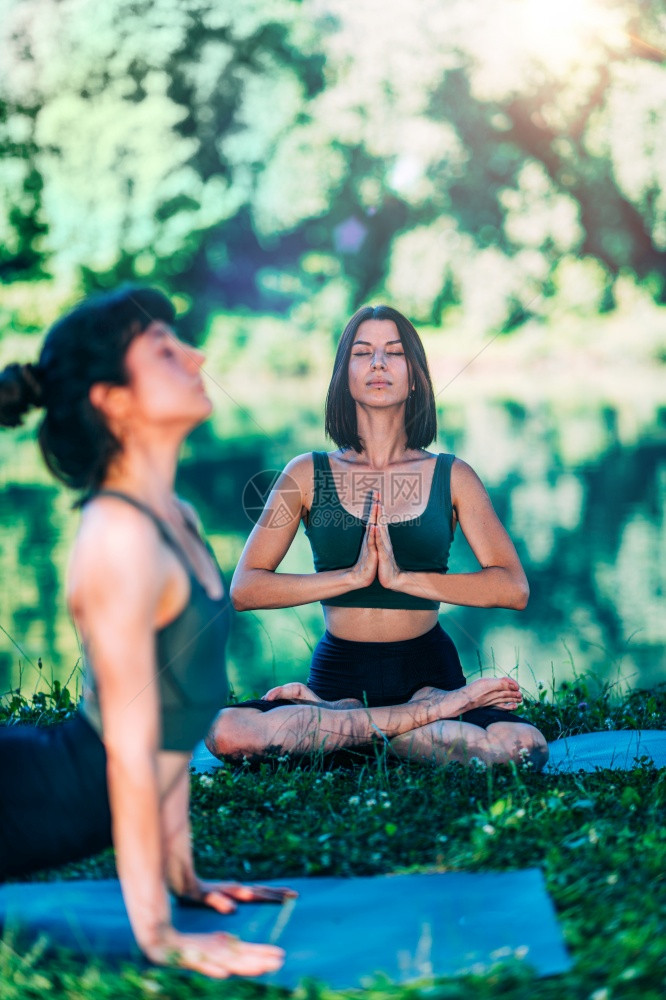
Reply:
M191 752L216 713L227 703L229 685L225 645L232 618L229 591L220 571L222 596L209 597L190 561L168 525L149 507L126 493L100 490L98 496L114 496L142 511L153 522L166 544L175 552L190 580L190 599L173 621L155 632L157 683L161 702L163 750ZM188 527L206 545L215 565L215 555L188 520ZM219 570L219 566L217 567ZM102 718L94 672L84 651L85 687L79 709L103 739Z

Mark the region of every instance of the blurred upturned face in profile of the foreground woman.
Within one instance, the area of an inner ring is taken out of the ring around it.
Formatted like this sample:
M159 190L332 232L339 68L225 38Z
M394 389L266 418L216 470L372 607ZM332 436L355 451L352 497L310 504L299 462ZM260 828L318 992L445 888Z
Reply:
M129 383L122 403L124 422L190 430L205 420L212 404L204 388L204 354L176 336L161 320L130 343L125 355Z

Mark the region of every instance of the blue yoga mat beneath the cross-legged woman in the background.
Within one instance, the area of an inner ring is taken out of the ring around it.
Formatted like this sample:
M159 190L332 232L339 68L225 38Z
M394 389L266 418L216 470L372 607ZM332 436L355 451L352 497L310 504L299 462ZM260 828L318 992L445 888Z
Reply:
M548 744L547 773L595 771L597 768L630 771L647 758L654 767L666 767L666 731L661 729L604 730L581 733ZM197 744L191 766L200 774L210 773L221 761Z

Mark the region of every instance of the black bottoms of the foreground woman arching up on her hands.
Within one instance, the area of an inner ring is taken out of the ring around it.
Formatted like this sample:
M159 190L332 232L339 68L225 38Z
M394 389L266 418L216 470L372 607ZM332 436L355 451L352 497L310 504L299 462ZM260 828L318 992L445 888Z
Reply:
M0 879L110 846L106 751L86 719L1 726Z

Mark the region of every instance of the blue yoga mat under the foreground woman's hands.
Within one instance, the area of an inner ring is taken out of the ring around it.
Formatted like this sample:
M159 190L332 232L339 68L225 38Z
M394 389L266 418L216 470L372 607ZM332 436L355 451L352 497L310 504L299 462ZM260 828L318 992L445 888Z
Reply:
M482 972L512 955L539 975L570 961L539 869L376 878L280 879L299 892L283 906L240 905L222 916L174 905L183 931L225 930L287 952L261 978L293 988L312 977L335 989L376 973L405 983ZM0 887L0 925L19 941L49 940L88 957L141 960L117 881L31 882Z

